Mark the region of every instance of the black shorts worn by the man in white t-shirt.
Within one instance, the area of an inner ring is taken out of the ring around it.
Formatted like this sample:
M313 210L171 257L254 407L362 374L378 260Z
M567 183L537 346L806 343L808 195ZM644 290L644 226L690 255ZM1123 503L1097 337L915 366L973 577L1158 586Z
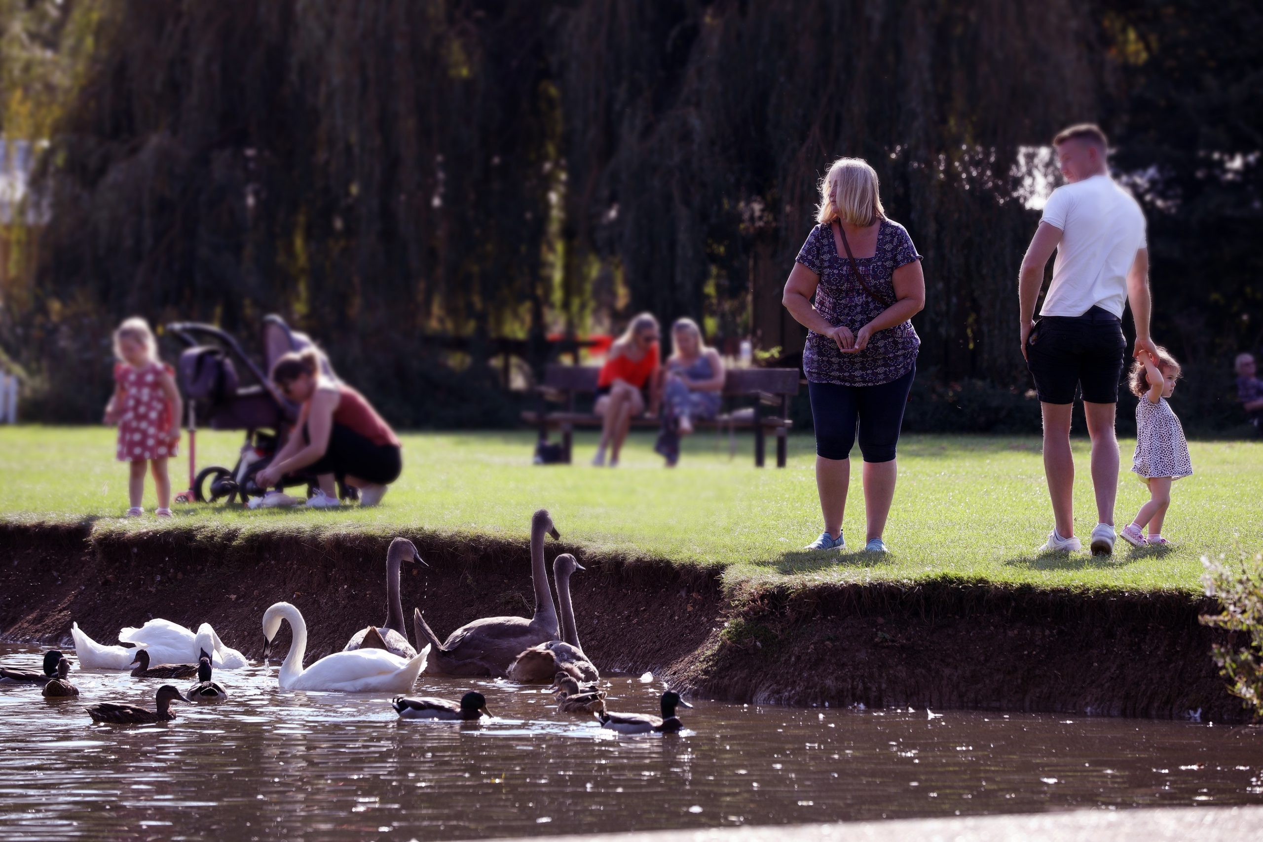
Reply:
M1027 340L1027 369L1046 404L1075 403L1076 388L1090 404L1118 403L1125 359L1123 323L1100 307L1045 316Z

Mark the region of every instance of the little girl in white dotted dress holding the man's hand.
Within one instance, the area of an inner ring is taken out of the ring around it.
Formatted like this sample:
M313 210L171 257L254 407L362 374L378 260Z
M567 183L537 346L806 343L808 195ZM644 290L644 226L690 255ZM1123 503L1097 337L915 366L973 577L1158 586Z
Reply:
M1188 442L1180 419L1167 398L1180 379L1180 364L1163 348L1157 357L1146 355L1132 366L1132 393L1140 399L1135 406L1135 457L1132 471L1149 486L1149 501L1140 506L1135 520L1124 529L1123 540L1133 547L1166 547L1162 519L1171 505L1171 483L1192 473ZM1149 528L1146 538L1144 528Z

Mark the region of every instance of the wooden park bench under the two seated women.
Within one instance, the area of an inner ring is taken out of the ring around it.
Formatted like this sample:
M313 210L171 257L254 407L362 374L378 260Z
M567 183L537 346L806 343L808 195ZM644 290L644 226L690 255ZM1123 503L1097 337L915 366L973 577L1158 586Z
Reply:
M539 386L539 409L524 412L522 418L539 428L541 438L548 430L561 430L561 443L565 449L565 462L571 463L572 434L576 427L600 427L601 419L591 412L580 412L577 398L596 391L596 379L600 369L596 366L568 366L553 364L544 369L544 380ZM793 422L789 420L789 399L798 394L797 369L729 369L724 376L725 410L714 420L695 420L697 429L753 429L754 465L763 467L765 437L768 430L777 436L777 467L786 466L786 436ZM748 399L751 406L734 408L734 401ZM565 409L548 410L547 401L561 401ZM779 412L768 412L764 404L772 404ZM777 405L779 404L779 405ZM634 428L657 428L657 418L638 417L632 419Z

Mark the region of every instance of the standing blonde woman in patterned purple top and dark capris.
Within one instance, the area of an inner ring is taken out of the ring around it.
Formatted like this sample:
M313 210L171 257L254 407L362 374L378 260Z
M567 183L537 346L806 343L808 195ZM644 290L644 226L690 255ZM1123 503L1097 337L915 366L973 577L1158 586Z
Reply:
M851 446L864 454L865 549L894 499L895 446L921 340L909 319L926 303L921 255L882 207L877 173L840 158L820 183L816 225L786 282L786 309L803 324L802 367L816 427L816 489L825 531L807 549L842 549ZM812 300L815 298L815 300Z

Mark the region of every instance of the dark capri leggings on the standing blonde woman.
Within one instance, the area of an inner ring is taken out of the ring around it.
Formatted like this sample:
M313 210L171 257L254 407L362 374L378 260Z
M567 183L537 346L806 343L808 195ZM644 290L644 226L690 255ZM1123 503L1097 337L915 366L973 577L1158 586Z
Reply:
M879 386L839 386L808 382L811 419L816 425L816 454L826 460L845 460L860 432L860 453L865 462L889 462L899 443L903 410L917 374L908 374Z

